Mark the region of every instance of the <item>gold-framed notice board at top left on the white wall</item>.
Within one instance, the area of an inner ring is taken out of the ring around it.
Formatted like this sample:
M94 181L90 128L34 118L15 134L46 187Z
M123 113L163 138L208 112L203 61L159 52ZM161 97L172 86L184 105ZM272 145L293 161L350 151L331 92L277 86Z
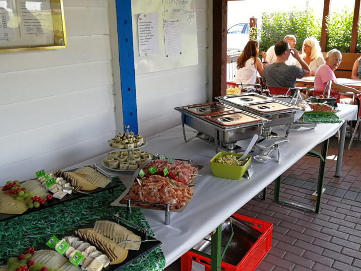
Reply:
M62 0L0 0L0 52L66 48Z

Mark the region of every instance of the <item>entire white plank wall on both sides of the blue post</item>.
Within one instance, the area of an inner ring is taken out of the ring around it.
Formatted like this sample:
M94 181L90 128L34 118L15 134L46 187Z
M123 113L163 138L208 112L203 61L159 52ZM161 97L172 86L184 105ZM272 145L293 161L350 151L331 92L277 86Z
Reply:
M0 53L0 186L110 150L115 115L122 118L121 99L114 99L120 78L114 82L112 1L63 0L67 49ZM144 136L179 125L174 107L206 101L207 0L196 3L199 64L136 77Z

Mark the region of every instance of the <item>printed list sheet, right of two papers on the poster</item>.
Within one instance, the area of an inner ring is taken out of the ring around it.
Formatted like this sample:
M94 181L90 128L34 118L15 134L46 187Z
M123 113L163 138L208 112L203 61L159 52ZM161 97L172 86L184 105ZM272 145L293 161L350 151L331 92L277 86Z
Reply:
M182 54L181 22L179 19L163 19L164 45L167 58Z

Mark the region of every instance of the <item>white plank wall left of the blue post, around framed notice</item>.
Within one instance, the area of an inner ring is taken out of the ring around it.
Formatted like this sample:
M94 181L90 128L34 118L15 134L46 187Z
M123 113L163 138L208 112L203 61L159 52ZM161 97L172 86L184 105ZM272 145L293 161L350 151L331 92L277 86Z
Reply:
M64 0L67 49L0 54L0 185L109 150L108 0Z

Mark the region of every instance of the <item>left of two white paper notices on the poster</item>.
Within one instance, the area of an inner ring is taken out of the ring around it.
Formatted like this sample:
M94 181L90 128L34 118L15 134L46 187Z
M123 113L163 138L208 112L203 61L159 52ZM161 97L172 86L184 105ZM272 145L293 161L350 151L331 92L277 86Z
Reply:
M138 17L139 56L159 54L158 14L142 13Z

